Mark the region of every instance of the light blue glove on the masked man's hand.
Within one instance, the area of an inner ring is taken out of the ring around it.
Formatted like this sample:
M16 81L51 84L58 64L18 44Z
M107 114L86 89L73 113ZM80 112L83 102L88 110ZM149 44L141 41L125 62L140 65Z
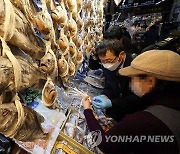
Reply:
M97 109L107 109L112 107L111 100L108 99L105 95L94 97L91 103Z

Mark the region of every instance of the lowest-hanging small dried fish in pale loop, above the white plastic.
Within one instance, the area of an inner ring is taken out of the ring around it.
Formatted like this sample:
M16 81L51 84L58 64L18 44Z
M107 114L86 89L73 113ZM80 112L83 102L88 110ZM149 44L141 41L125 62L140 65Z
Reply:
M50 78L47 79L46 84L42 90L42 101L46 106L52 106L56 102L57 91Z

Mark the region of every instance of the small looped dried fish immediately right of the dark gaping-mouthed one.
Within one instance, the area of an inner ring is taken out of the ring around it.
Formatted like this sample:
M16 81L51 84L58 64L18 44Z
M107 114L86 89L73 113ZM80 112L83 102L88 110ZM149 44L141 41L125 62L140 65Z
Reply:
M62 55L61 58L58 60L58 72L59 75L61 77L65 77L68 75L69 72L69 66L68 63L66 61L66 59L64 58L64 56Z

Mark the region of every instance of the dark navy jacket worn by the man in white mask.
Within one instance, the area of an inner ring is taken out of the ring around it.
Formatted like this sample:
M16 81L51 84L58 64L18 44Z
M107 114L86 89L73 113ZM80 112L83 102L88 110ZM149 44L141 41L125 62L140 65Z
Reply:
M129 66L132 60L132 56L126 54L123 67ZM103 69L105 87L102 94L106 95L112 102L112 107L106 110L107 115L119 121L125 114L136 111L139 107L139 98L129 88L129 77L119 75L119 68L115 71L109 71L92 58L90 58L89 67L91 69L98 69L100 67Z

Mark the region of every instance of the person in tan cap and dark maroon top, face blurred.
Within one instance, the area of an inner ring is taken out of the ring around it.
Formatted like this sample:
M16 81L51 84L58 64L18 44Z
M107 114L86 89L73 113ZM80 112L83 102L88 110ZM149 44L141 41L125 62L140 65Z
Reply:
M150 50L119 70L131 77L130 87L143 104L108 131L95 119L89 97L83 99L90 131L99 131L104 153L180 154L180 55Z

